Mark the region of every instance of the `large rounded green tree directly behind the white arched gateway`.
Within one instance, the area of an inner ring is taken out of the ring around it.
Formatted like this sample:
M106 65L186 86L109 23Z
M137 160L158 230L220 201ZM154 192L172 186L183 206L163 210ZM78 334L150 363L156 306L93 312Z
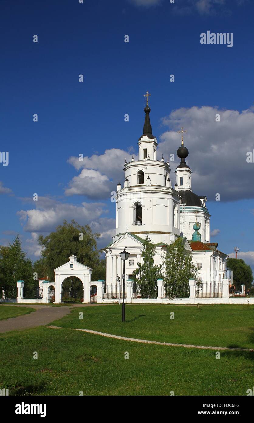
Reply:
M100 265L96 242L99 237L100 234L93 233L88 225L81 226L74 220L71 223L64 220L63 225L57 226L56 231L48 236L40 235L38 242L43 248L41 256L48 279L54 280L54 269L66 263L73 254L80 263L96 272L96 268Z

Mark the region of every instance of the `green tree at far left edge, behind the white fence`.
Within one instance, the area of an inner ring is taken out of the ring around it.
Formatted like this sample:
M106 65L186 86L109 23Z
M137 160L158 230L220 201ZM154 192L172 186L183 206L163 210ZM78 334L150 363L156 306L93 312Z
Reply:
M0 246L0 288L5 290L7 298L16 298L18 280L24 280L31 286L37 285L33 280L32 261L22 250L19 235L9 246Z

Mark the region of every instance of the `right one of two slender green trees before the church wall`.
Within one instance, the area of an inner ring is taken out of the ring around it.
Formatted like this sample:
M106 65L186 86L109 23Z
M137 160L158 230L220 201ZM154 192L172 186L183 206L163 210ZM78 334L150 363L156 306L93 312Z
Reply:
M197 279L199 271L186 250L183 238L178 238L167 247L163 259L164 287L168 297L189 297L189 279Z

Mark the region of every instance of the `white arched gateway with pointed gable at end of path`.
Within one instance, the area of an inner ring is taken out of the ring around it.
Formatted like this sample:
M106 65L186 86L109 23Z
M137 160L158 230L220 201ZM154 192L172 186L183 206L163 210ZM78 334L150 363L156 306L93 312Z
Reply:
M55 303L59 304L61 302L61 292L63 289L63 282L67 277L76 276L81 280L84 295L83 303L90 302L90 286L92 279L92 269L85 266L77 261L76 255L71 255L69 257L70 261L63 264L63 266L57 267L54 270L55 272ZM94 283L94 282L93 282Z

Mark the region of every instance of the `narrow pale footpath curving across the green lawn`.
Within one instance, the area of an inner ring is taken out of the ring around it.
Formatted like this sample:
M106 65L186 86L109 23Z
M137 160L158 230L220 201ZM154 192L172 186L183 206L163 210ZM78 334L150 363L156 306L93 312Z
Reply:
M60 326L47 326L50 329L66 329ZM202 345L191 345L191 344L178 344L178 343L171 343L171 342L158 342L158 341L148 341L147 339L137 339L137 338L127 338L126 336L117 336L117 335L111 335L110 333L104 333L104 332L97 332L96 330L90 330L90 329L73 329L70 330L79 330L81 332L88 332L93 333L95 335L101 335L105 336L106 338L115 338L120 339L122 341L131 341L131 342L140 342L140 343L151 343L156 345L166 345L166 346L182 346L185 348L197 348L197 349L213 349L215 351L254 351L254 349L250 348L227 348L224 346L202 346Z

